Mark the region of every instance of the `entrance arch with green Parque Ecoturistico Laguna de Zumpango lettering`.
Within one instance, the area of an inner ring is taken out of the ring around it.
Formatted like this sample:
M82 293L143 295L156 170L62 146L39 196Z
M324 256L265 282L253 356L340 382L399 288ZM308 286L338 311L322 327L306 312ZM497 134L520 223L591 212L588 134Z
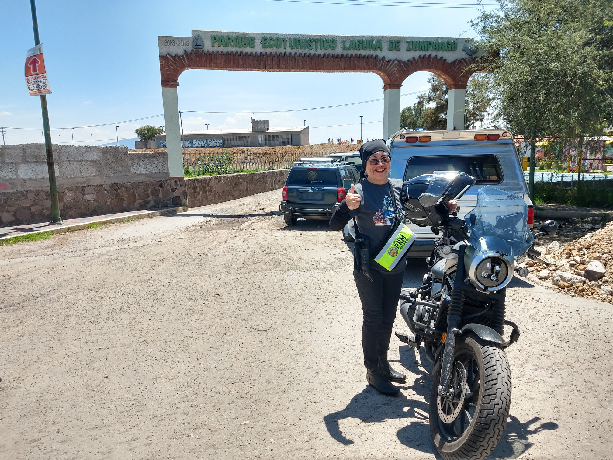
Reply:
M383 138L400 126L400 87L419 71L447 83L447 129L464 128L466 85L481 58L474 40L449 37L343 36L192 31L158 37L170 178L183 180L177 99L188 69L261 72L372 72L383 80ZM180 184L177 184L179 186Z

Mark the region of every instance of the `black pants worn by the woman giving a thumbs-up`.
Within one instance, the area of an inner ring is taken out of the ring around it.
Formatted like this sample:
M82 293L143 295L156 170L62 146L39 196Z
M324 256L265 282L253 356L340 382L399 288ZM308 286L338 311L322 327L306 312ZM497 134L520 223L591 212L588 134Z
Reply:
M353 271L357 292L362 301L362 350L366 369L376 369L379 355L389 349L392 326L400 299L400 289L405 272L397 274L370 270L373 282L368 281L361 272Z

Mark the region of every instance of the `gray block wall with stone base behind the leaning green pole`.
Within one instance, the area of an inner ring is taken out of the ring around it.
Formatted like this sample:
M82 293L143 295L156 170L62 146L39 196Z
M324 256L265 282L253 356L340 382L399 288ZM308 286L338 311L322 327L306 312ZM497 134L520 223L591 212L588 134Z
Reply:
M123 145L53 145L62 218L185 204L185 186L171 184L164 151L129 152ZM176 181L175 181L176 182ZM0 145L0 226L51 217L44 144Z

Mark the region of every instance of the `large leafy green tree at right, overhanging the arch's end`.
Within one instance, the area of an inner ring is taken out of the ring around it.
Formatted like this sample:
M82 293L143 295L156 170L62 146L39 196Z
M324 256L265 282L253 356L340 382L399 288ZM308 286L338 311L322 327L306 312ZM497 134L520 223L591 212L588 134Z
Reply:
M495 118L531 139L557 137L583 150L613 113L613 4L610 0L498 0L473 21L490 59ZM485 67L485 68L484 68Z

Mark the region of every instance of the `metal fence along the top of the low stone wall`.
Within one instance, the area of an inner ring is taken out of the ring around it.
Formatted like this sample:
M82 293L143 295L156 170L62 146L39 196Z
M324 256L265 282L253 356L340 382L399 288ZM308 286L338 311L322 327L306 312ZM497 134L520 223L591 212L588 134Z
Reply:
M250 150L223 150L211 153L196 153L189 149L183 151L183 167L194 175L232 174L243 171L272 171L289 169L300 157L321 157L331 153L327 150L300 152L257 153Z

